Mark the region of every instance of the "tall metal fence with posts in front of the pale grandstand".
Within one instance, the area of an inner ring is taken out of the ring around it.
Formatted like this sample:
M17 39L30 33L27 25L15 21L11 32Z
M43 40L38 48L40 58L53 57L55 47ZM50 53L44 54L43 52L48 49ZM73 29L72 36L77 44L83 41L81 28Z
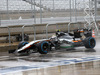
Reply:
M92 14L91 14L92 13ZM0 1L0 25L27 25L58 22L86 21L90 25L91 16L94 24L99 20L99 0L2 0ZM70 25L70 23L68 25ZM100 24L98 24L100 26ZM69 26L70 27L70 26ZM33 27L34 28L34 27ZM69 28L70 29L70 28ZM68 30L69 30L68 29ZM98 28L97 28L98 29ZM35 28L33 29L35 30ZM70 31L70 30L69 30ZM34 31L35 32L35 31ZM23 39L22 37L22 39ZM35 40L35 38L34 38Z

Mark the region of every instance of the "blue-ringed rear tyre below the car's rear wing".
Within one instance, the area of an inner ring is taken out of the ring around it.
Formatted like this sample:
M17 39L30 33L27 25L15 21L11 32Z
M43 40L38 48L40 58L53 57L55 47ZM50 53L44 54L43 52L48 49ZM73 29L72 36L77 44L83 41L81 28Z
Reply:
M93 37L88 37L84 40L84 45L86 48L94 48L96 45L96 41Z

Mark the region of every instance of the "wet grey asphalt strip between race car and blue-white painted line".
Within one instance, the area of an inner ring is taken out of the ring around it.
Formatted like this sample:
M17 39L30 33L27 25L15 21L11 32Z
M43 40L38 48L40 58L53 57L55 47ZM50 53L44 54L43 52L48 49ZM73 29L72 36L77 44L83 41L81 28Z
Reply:
M100 39L96 39L96 47L94 49L86 49L78 47L75 50L57 50L51 51L46 55L32 53L29 56L15 56L7 52L0 53L0 68L8 68L15 66L25 66L29 64L39 64L44 62L53 62L63 59L73 59L100 55Z

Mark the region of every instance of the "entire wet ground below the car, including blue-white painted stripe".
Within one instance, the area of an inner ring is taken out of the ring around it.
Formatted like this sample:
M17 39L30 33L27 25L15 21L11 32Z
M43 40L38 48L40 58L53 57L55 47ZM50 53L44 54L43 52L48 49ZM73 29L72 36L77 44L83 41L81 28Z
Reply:
M96 47L94 49L78 47L75 50L61 49L51 51L46 55L33 53L29 56L15 56L14 54L8 54L7 52L0 52L0 74L100 75L99 44L100 37L97 37Z

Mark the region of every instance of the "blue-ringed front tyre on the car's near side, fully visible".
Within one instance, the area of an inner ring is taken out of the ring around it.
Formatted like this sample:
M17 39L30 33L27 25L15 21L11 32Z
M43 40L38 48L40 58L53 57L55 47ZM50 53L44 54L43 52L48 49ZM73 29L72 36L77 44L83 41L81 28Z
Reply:
M38 51L41 54L47 54L50 50L50 44L47 41L42 41L38 44Z

